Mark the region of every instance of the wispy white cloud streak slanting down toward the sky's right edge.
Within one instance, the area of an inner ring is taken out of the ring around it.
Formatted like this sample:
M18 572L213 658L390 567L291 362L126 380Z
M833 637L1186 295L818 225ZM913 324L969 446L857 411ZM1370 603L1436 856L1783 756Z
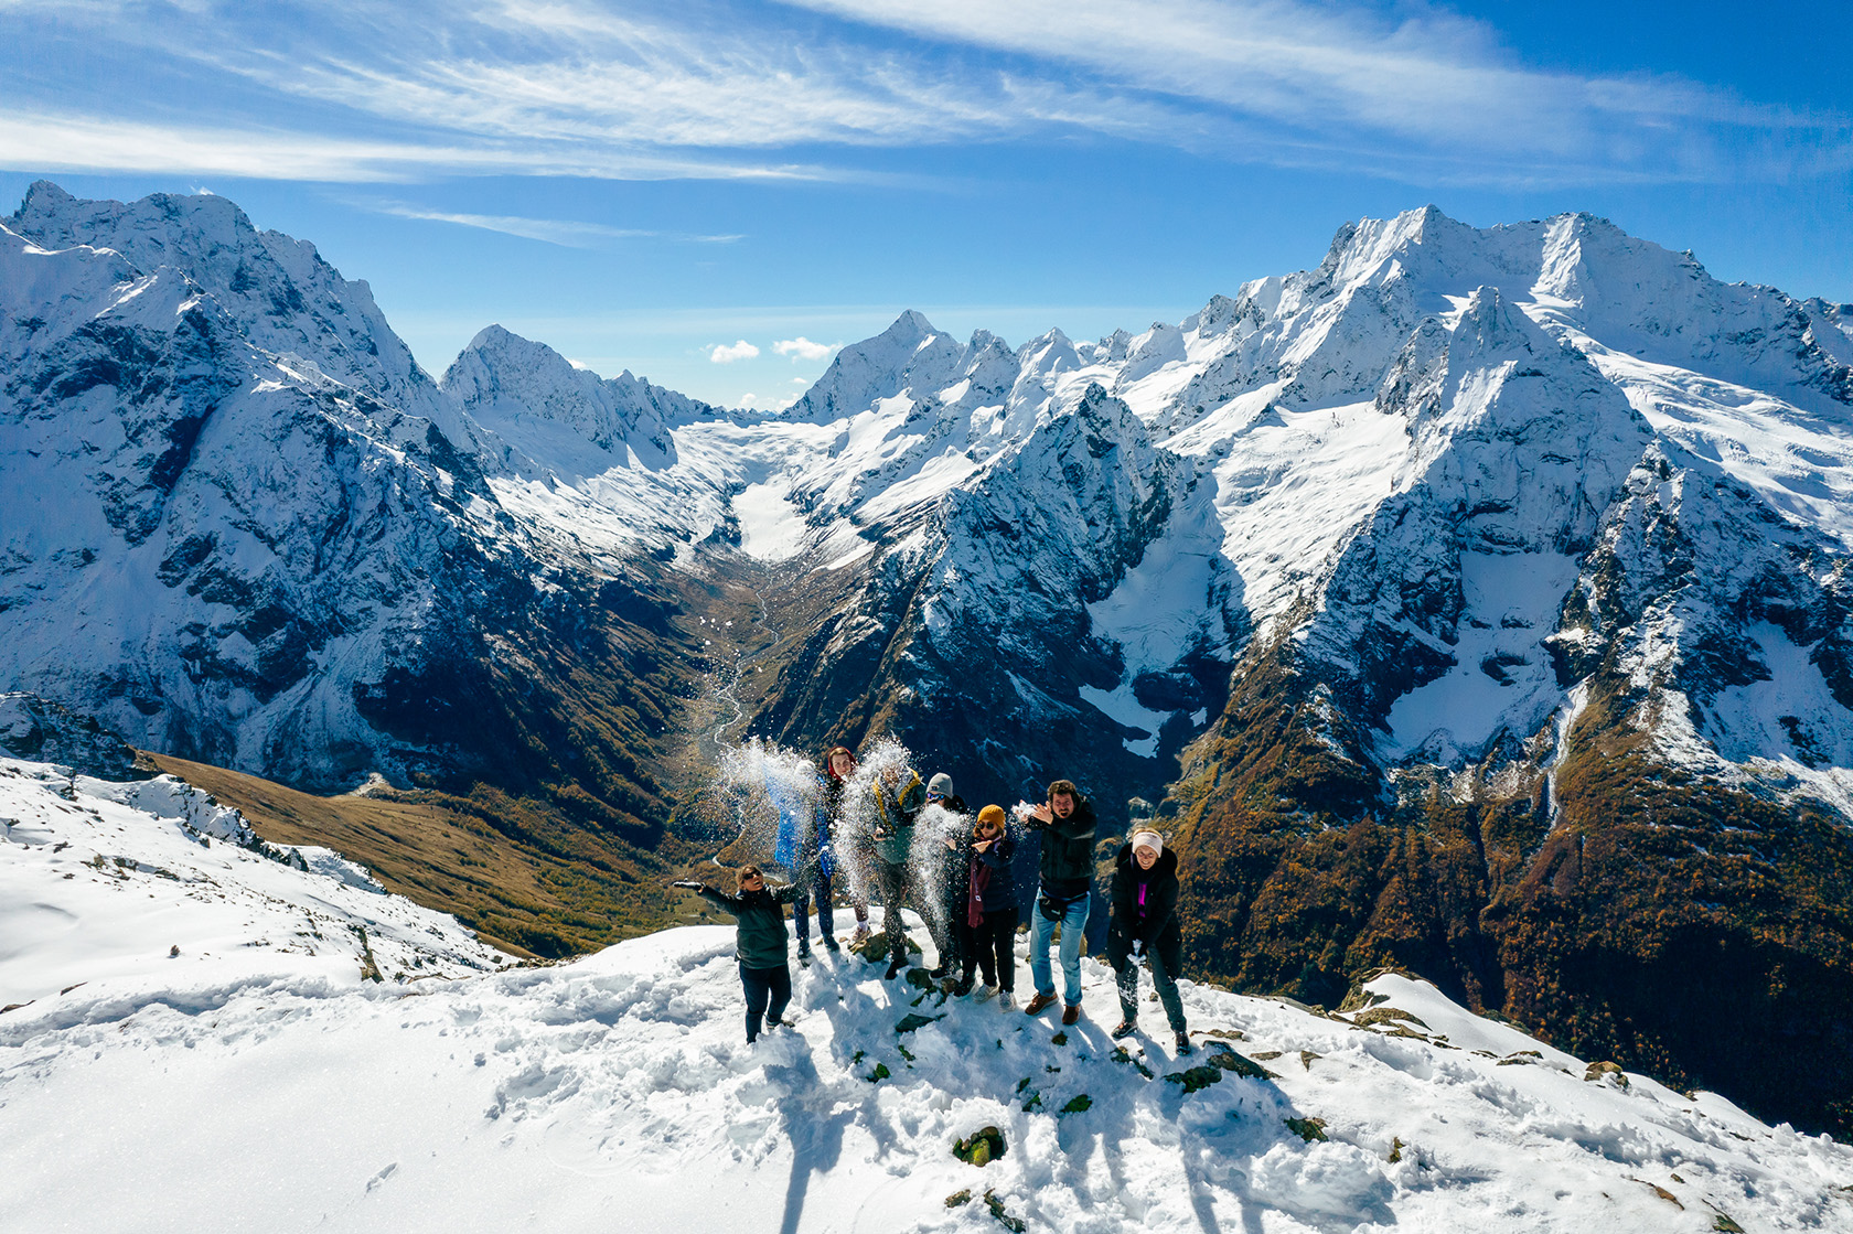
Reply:
M1853 148L1846 115L1747 106L1668 76L1527 67L1488 26L1440 9L1390 20L1305 0L791 2L1203 104L1179 145L1234 141L1234 152L1288 165L1434 176L1453 161L1482 178L1664 180L1766 170L1746 163L1844 167ZM1727 157L1720 130L1753 148Z

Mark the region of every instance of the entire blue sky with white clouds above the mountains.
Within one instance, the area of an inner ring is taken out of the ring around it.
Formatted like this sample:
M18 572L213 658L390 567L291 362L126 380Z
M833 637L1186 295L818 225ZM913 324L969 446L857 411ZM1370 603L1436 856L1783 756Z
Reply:
M1849 46L1846 0L0 0L0 202L209 189L434 372L502 322L776 406L906 308L1140 330L1429 202L1853 300Z

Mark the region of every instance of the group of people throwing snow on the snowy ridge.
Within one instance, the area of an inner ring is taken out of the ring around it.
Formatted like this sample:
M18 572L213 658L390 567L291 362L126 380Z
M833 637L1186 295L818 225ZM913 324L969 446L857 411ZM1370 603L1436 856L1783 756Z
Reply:
M893 980L908 965L908 938L901 908L914 908L938 951L936 980L951 997L997 999L1015 1010L1015 934L1021 899L1014 858L1023 832L1041 841L1038 884L1030 917L1030 980L1034 997L1023 1008L1038 1015L1056 1002L1054 965L1062 967L1062 1023L1080 1019L1080 947L1093 902L1095 812L1071 780L1049 786L1038 806L1021 806L1012 817L1002 806L984 806L973 815L952 791L945 773L921 782L904 762L889 760L871 776L858 776L858 760L847 747L834 747L823 760L815 797L799 826L788 826L775 858L791 871L788 886L771 888L758 865L741 865L732 895L700 882L674 886L697 891L715 908L732 913L739 926L739 980L747 995L747 1041L763 1026L788 1023L791 1001L786 906L793 910L799 963L810 965L810 915L815 910L819 941L839 951L834 934L832 888L839 873L849 878L856 913L852 945L869 938L869 889L882 899L888 971ZM858 793L867 797L858 799ZM938 808L928 812L928 806ZM932 836L917 836L923 819L934 819ZM788 819L789 823L789 819ZM836 837L843 837L839 854ZM923 843L915 843L915 839ZM839 860L854 863L839 871ZM1182 962L1182 930L1177 921L1177 852L1149 828L1132 832L1114 862L1112 919L1106 958L1119 991L1121 1023L1114 1038L1138 1028L1138 973L1147 965L1175 1034L1177 1052L1191 1052L1184 1008L1177 993ZM1060 943L1056 932L1060 930ZM982 978L982 984L977 984Z

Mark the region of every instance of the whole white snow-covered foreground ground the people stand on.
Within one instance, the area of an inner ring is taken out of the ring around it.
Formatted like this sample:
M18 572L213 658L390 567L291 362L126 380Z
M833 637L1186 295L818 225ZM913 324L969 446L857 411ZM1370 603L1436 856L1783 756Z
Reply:
M7 1230L1853 1227L1853 1149L1397 975L1342 1017L1184 982L1175 1060L1156 1006L1116 1056L1093 960L1062 1034L845 952L749 1047L730 926L489 971L172 780L0 760L0 819Z

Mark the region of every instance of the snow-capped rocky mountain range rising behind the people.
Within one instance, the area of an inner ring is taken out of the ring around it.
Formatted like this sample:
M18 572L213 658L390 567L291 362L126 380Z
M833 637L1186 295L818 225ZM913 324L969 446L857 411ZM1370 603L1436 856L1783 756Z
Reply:
M441 715L513 713L647 823L725 667L695 619L747 587L750 728L893 730L967 799L1164 797L1203 971L1330 1001L1395 962L1849 1127L1844 306L1427 209L1140 335L906 313L745 415L500 328L428 384L215 198L37 185L7 228L39 513L0 686L296 782L576 782Z

